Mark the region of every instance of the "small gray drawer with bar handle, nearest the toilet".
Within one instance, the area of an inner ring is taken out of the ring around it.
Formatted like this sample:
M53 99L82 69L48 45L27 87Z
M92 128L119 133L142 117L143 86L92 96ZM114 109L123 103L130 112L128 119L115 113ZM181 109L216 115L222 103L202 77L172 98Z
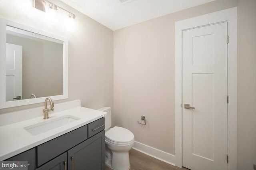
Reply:
M98 119L92 123L88 124L88 138L92 137L93 135L97 134L101 130L105 128L105 117Z

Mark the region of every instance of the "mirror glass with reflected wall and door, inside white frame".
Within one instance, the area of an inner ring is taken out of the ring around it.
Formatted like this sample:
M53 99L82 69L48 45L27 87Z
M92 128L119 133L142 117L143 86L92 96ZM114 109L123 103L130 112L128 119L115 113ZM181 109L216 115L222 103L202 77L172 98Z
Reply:
M64 42L6 29L6 101L63 95Z

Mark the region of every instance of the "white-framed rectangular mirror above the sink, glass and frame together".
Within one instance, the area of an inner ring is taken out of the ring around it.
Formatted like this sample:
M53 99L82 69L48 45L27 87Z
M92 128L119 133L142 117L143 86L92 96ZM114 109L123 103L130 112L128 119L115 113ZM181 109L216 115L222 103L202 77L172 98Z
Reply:
M0 34L5 37L0 45L6 47L5 53L0 53L4 61L0 64L0 91L5 94L0 108L40 103L46 97L68 98L68 41L8 20L0 21Z

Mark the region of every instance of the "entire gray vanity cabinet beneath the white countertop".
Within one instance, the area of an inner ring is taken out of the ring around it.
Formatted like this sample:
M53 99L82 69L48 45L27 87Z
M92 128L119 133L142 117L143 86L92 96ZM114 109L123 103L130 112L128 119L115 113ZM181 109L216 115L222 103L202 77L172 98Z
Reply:
M7 160L28 161L28 170L105 170L104 117Z

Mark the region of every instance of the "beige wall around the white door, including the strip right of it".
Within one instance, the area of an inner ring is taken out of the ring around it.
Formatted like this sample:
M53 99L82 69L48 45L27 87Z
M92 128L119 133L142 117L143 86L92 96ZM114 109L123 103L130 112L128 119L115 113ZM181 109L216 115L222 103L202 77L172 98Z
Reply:
M238 6L238 170L256 164L256 1L216 0L114 31L115 125L175 154L174 23ZM145 115L147 126L138 125Z

